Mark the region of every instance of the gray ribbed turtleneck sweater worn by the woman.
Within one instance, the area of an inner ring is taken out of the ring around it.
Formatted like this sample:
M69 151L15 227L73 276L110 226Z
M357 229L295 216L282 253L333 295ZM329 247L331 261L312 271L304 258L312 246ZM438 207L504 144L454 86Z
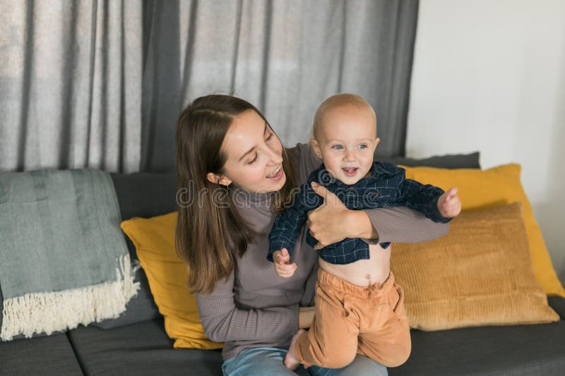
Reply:
M295 163L300 183L321 164L307 144L287 149ZM297 269L290 278L279 277L267 260L268 234L276 213L270 210L273 193L237 190L242 217L260 234L238 257L227 281L220 281L210 295L197 295L198 311L208 338L225 341L224 359L249 347L288 348L298 330L300 306L314 304L318 255L305 241L304 228L297 238L294 261ZM370 243L429 241L448 231L448 224L434 223L407 207L364 210L379 233Z

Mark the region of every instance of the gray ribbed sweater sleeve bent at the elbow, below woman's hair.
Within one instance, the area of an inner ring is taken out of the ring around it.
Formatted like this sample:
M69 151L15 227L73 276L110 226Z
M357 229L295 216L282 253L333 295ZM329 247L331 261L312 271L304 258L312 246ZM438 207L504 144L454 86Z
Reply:
M218 281L210 295L196 294L198 313L209 339L216 342L291 337L298 330L298 304L244 310L234 303L234 272Z

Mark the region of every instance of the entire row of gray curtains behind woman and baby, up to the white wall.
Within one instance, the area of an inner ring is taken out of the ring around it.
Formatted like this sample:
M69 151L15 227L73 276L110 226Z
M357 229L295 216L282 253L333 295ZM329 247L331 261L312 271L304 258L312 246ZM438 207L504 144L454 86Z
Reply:
M287 146L337 92L403 155L417 0L0 0L0 169L174 169L195 97L243 97ZM7 58L5 57L7 51Z

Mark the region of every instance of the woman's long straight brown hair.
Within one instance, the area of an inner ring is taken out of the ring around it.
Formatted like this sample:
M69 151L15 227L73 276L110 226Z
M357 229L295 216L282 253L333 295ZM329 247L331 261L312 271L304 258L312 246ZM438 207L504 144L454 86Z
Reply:
M206 178L209 172L222 175L226 155L220 146L227 129L235 116L250 109L268 124L253 104L230 95L194 99L177 121L175 243L177 254L189 268L187 286L194 293L211 293L220 279L229 277L236 255L243 255L258 235L239 214L229 188ZM297 186L294 166L284 148L283 169L287 180L275 194L273 209L277 212L292 200Z

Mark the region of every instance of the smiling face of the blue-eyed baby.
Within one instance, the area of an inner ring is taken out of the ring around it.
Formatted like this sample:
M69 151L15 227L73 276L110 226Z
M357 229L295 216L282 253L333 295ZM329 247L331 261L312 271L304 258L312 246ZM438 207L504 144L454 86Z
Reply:
M348 185L367 176L378 143L374 112L351 104L326 111L311 140L330 174Z

